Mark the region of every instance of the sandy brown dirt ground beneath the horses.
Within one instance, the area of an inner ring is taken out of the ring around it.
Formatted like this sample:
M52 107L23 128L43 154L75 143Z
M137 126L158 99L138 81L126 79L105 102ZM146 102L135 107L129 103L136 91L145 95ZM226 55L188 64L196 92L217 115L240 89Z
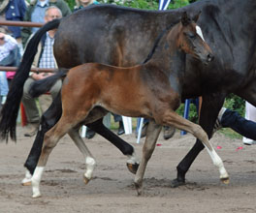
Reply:
M194 144L191 135L164 140L157 147L144 175L144 195L137 196L134 175L124 157L103 137L86 140L97 161L94 177L83 184L84 160L69 137L64 137L49 156L41 184L42 198L31 198L29 186L21 186L23 164L34 137L23 137L18 127L17 142L0 143L0 213L122 213L256 212L256 145L244 146L240 139L215 134L210 140L230 174L230 184L219 181L219 173L203 151L187 173L187 185L171 188L176 165ZM141 156L144 139L122 136ZM218 149L217 149L218 148Z

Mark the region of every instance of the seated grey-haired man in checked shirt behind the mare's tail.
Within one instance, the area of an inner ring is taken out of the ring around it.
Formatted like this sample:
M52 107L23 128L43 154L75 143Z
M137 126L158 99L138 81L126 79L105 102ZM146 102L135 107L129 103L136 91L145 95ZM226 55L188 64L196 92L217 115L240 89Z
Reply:
M61 18L61 17L62 17L61 11L55 6L49 7L45 12L46 23L48 21L51 21L54 18ZM53 48L52 48L54 43L55 32L56 32L56 29L50 30L42 37L42 40L38 46L37 55L35 56L35 60L33 62L34 67L39 67L39 68L56 68L57 67L54 56L53 56ZM31 73L30 77L25 81L25 84L23 87L22 103L24 105L28 124L29 124L28 131L24 134L25 137L33 137L37 133L39 123L40 123L39 109L36 105L35 99L33 99L28 93L30 85L35 80L43 79L50 75L52 74ZM57 96L60 88L61 88L61 80L57 81L49 90L49 93L52 99L54 99Z

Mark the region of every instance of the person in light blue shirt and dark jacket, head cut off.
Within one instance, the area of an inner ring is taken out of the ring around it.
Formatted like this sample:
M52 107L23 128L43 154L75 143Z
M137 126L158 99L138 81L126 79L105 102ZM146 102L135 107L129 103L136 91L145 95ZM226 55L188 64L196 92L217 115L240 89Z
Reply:
M25 21L44 23L46 9L50 6L59 8L63 16L70 15L71 11L64 0L31 0L24 16ZM32 33L37 27L23 27L21 30L22 45L25 46Z

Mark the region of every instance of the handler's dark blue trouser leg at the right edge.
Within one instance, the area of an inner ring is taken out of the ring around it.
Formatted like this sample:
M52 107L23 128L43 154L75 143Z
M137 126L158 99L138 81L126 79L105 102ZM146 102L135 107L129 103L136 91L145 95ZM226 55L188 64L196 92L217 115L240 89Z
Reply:
M226 109L220 121L222 127L229 127L243 137L256 140L256 123L240 116L237 111Z

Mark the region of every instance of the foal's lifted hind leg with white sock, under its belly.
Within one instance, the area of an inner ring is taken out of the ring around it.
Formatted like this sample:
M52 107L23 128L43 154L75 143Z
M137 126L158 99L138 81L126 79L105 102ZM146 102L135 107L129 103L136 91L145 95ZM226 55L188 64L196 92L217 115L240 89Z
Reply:
M83 174L83 180L84 183L87 184L92 177L92 171L96 165L96 162L92 157L89 149L85 145L83 139L80 137L79 129L71 129L69 131L69 136L74 140L75 144L78 146L85 159L86 172Z

